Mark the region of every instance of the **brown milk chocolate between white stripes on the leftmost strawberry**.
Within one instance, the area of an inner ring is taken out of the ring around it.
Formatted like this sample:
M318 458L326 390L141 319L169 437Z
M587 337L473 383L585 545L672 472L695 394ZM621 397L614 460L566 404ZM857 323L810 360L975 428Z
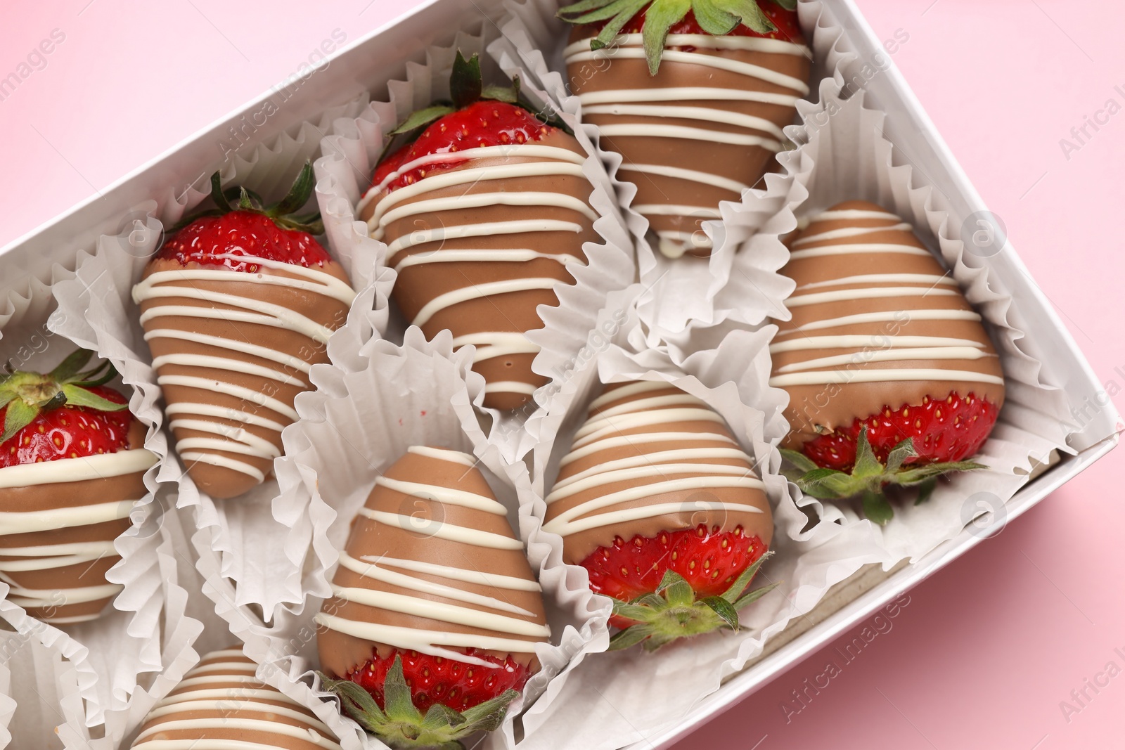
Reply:
M144 446L144 427L140 422L133 422L128 434L126 449ZM58 459L63 461L81 461L82 459ZM54 463L54 462L53 462ZM3 469L0 469L3 471ZM42 510L74 508L80 506L100 505L117 500L140 500L145 495L144 471L84 479L79 481L48 482L27 487L0 488L0 510L4 513L36 513ZM43 622L66 624L97 617L106 605L116 596L116 591L106 597L90 602L69 602L68 590L91 586L105 586L106 572L117 564L120 555L108 552L96 560L83 559L73 564L35 566L32 570L12 570L9 567L22 567L24 563L35 564L36 560L64 560L65 552L52 551L52 545L80 544L84 542L111 542L126 531L132 522L128 516L80 526L64 526L60 518L56 528L25 533L4 533L0 528L0 579L12 586L9 599L27 609L27 613ZM4 550L16 548L48 548L43 554L6 554ZM40 599L47 602L36 606L37 599L20 596L19 589L51 591Z

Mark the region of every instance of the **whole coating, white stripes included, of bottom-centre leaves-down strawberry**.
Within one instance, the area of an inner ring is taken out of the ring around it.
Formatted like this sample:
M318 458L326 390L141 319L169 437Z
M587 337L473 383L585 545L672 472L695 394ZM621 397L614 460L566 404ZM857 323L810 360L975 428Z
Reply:
M466 453L414 446L378 479L316 615L331 674L348 675L372 649L485 668L496 665L461 651L533 661L550 635L539 584L475 467Z

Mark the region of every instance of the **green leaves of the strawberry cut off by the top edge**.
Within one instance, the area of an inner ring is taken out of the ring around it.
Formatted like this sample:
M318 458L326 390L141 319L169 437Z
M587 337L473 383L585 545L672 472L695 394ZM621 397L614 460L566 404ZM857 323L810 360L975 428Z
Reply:
M795 10L796 1L772 0L785 10ZM626 24L641 10L645 11L641 31L645 58L652 75L660 69L668 29L682 21L688 10L694 13L700 28L712 36L726 36L739 25L756 34L777 30L758 7L758 0L580 0L559 8L558 17L575 26L606 21L597 36L590 40L590 48L596 51L610 46Z

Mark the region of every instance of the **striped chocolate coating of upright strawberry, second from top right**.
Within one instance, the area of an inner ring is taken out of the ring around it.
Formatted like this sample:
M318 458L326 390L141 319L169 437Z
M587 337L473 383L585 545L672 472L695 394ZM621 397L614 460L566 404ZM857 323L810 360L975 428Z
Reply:
M555 306L567 268L584 264L597 214L583 175L586 155L556 130L540 141L431 154L389 174L359 206L371 236L387 243L398 272L393 295L428 337L449 328L453 345L476 346L485 406L514 409L546 379L531 371L542 327L536 308ZM422 180L387 192L418 168Z

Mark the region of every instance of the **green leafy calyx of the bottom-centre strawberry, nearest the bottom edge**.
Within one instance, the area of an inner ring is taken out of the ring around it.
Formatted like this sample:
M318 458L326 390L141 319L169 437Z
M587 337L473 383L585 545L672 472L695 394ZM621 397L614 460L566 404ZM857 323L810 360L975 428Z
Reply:
M370 693L356 683L317 674L324 689L340 698L348 715L393 750L464 750L460 740L497 729L504 722L508 704L520 695L516 690L505 690L461 712L434 704L423 715L411 697L399 656L395 656L395 662L382 683L382 708Z

